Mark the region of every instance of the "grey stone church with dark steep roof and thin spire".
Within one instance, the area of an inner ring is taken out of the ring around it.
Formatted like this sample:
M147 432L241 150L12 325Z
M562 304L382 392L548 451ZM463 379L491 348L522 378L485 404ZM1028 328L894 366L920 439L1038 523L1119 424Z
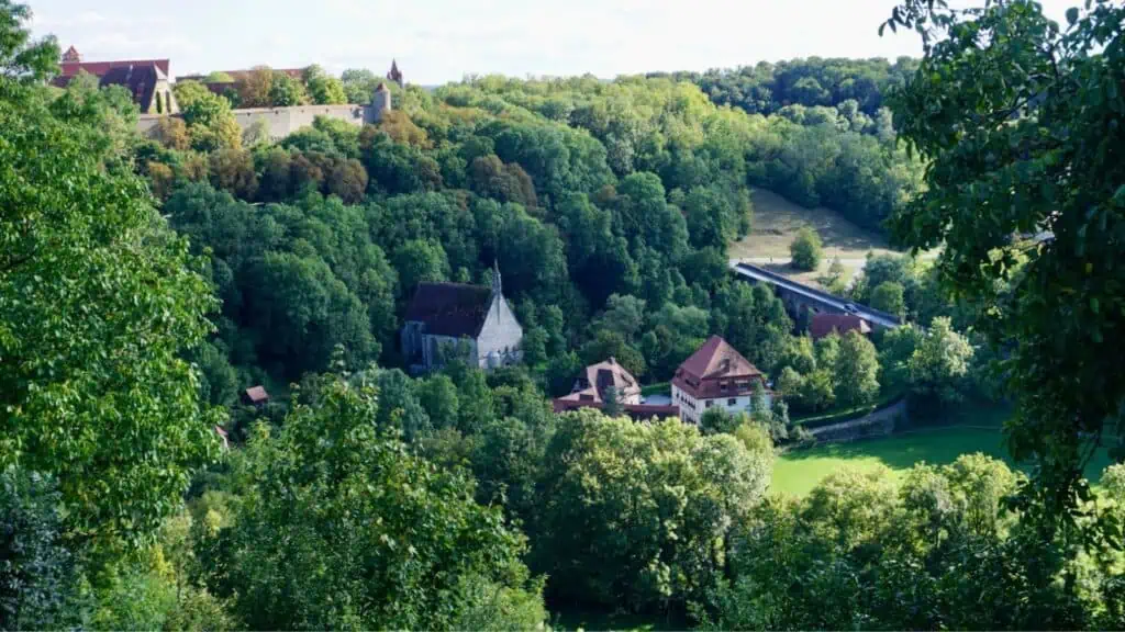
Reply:
M523 327L493 270L490 288L465 283L418 283L404 317L403 354L414 372L439 368L452 355L492 369L522 358Z

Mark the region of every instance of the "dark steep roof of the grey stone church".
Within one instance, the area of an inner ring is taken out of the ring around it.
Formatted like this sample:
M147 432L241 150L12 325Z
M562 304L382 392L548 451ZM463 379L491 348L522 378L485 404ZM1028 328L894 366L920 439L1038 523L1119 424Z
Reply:
M418 283L406 322L425 323L425 333L477 337L488 316L492 288L465 283Z

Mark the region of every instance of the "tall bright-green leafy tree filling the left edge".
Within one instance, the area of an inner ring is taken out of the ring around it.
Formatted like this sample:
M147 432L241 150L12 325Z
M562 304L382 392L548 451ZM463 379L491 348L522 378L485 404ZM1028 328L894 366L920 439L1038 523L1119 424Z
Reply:
M222 415L183 360L212 328L205 263L98 123L0 76L0 468L54 476L68 539L108 545L174 511Z

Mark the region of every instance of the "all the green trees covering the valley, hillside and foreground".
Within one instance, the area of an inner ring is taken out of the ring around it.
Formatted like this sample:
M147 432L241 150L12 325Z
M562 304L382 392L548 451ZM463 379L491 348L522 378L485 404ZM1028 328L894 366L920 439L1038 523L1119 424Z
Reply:
M1125 626L1125 467L1076 473L1125 434L1095 358L1125 314L1125 9L1060 30L908 0L888 34L921 60L390 83L377 124L281 139L232 109L360 102L375 74L181 81L141 135L124 90L45 84L29 16L0 0L0 629ZM813 342L734 280L755 187L944 244L825 280L908 324ZM410 376L414 288L494 267L521 365ZM658 383L713 334L773 406L551 409L586 364ZM1014 406L1027 467L770 491L798 416L888 397Z

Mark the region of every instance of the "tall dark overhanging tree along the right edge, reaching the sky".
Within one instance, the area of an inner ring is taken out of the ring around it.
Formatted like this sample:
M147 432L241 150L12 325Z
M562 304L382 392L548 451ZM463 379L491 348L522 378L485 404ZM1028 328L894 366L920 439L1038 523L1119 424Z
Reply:
M1033 2L911 0L889 21L925 36L891 107L899 137L929 162L927 188L891 227L916 249L946 244L943 278L986 306L978 326L1010 354L1017 395L1008 443L1036 463L1028 491L1047 515L1078 511L1082 454L1125 430L1125 373L1096 352L1125 342L1125 271L1113 263L1125 164L1109 152L1125 134L1114 123L1123 17L1098 2L1070 9L1061 30ZM1041 231L1034 245L1012 238Z

